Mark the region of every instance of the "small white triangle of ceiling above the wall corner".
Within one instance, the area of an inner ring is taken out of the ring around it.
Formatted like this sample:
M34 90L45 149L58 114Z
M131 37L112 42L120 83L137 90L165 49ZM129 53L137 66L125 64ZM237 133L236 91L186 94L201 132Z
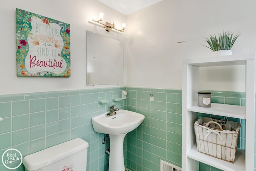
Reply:
M132 12L138 11L142 8L146 8L152 4L160 2L162 0L98 0L103 4L117 10L118 12L127 15Z

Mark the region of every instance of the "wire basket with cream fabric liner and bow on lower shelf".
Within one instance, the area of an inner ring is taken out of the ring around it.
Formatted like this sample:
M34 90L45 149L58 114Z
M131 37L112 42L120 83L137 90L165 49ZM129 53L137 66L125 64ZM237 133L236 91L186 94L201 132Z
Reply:
M201 117L194 123L197 150L234 163L241 124Z

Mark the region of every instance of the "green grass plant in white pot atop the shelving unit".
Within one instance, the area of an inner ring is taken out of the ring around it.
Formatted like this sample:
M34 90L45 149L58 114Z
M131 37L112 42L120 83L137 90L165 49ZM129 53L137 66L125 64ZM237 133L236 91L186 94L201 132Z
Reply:
M213 56L224 56L224 55L232 55L232 51L230 50L236 41L236 39L240 36L240 33L234 35L233 32L223 31L223 33L216 36L210 35L209 38L205 38L205 41L209 46L205 46L213 51ZM203 45L204 46L204 45Z

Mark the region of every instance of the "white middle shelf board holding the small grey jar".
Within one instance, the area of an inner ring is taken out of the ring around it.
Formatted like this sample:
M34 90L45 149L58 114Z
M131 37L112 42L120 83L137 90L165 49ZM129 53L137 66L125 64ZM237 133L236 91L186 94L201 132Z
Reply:
M199 107L198 105L192 105L188 107L187 110L212 115L246 119L245 107L238 105L212 103L211 107Z

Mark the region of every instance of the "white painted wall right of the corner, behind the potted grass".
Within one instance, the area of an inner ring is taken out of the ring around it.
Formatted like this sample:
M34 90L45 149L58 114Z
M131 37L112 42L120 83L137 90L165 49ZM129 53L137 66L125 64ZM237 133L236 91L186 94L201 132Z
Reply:
M129 14L127 84L181 88L182 59L212 57L212 51L202 46L206 45L204 37L223 30L242 33L232 48L233 54L255 53L255 6L255 0L163 0ZM240 76L244 76L245 69L237 69L235 73L218 68L208 75L204 72L201 89L245 91ZM216 74L221 84L217 86L216 77L206 84L207 77Z

